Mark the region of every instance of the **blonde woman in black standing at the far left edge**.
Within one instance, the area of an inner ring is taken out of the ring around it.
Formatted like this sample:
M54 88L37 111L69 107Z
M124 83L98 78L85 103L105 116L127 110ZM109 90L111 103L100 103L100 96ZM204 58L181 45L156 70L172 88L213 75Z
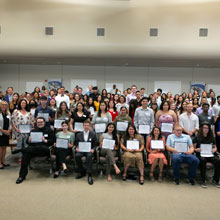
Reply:
M11 131L11 117L8 103L0 103L0 169L9 166L5 163L6 148L9 145L9 135Z

